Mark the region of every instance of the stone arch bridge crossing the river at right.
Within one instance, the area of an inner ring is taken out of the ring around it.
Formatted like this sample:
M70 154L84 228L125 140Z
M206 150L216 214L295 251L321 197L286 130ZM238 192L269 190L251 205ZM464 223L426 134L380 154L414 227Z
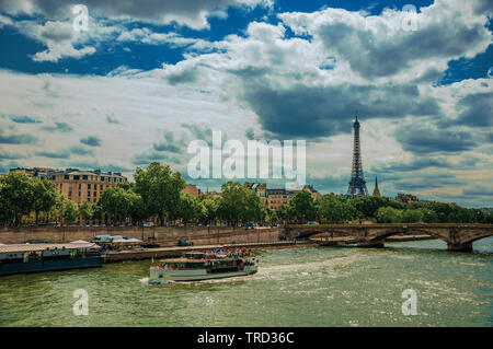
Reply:
M466 223L400 223L400 224L314 224L285 225L287 239L331 236L332 242L357 244L362 247L382 247L387 237L395 234L428 234L447 243L449 251L472 251L472 243L493 235L493 224Z

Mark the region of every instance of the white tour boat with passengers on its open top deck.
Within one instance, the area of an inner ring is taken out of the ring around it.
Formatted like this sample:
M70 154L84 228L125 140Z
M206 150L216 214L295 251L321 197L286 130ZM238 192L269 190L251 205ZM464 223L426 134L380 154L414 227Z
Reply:
M249 251L191 252L181 258L164 259L150 267L149 283L200 281L255 274L259 258Z

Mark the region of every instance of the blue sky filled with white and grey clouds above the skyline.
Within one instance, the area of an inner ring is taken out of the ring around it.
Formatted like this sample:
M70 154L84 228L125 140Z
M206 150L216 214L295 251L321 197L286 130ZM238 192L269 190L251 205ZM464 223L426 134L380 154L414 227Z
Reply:
M187 177L188 142L220 130L303 139L308 182L345 193L358 109L370 190L491 206L491 1L84 4L78 33L71 3L0 1L0 172L157 160Z

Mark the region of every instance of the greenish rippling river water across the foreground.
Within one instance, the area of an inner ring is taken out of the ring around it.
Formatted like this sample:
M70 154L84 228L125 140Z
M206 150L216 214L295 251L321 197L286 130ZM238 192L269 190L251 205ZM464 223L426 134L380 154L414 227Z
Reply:
M0 326L492 326L493 237L257 251L251 277L149 286L151 260L0 278ZM89 294L76 316L73 292ZM403 315L402 292L417 315Z

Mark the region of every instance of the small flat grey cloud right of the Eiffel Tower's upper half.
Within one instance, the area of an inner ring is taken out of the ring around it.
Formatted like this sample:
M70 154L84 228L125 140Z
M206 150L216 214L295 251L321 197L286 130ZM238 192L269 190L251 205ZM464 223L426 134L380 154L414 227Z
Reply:
M423 127L400 127L395 132L402 148L413 153L460 152L473 149L479 140L466 131L433 130Z

